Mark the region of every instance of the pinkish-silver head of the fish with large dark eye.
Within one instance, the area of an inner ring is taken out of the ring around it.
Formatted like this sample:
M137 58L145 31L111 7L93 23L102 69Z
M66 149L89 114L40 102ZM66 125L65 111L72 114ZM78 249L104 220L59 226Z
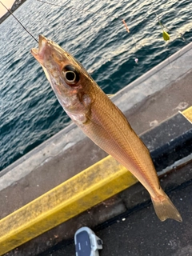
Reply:
M43 35L39 36L38 49L32 49L31 54L41 64L64 110L74 114L87 111L93 100L90 87L94 80L83 66L70 53Z

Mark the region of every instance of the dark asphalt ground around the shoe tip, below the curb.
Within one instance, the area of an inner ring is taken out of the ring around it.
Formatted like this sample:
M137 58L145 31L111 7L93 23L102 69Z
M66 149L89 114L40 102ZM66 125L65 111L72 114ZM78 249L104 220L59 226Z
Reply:
M186 171L192 165L185 166ZM187 172L185 172L186 174ZM183 222L160 222L151 202L145 202L123 215L95 227L102 239L100 256L191 256L192 255L192 179L167 193L182 214ZM74 256L74 240L60 242L41 256Z

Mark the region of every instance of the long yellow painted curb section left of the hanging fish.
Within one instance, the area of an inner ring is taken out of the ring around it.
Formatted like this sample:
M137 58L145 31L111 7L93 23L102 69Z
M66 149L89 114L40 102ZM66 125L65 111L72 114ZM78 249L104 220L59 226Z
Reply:
M137 182L110 156L0 221L0 255Z

